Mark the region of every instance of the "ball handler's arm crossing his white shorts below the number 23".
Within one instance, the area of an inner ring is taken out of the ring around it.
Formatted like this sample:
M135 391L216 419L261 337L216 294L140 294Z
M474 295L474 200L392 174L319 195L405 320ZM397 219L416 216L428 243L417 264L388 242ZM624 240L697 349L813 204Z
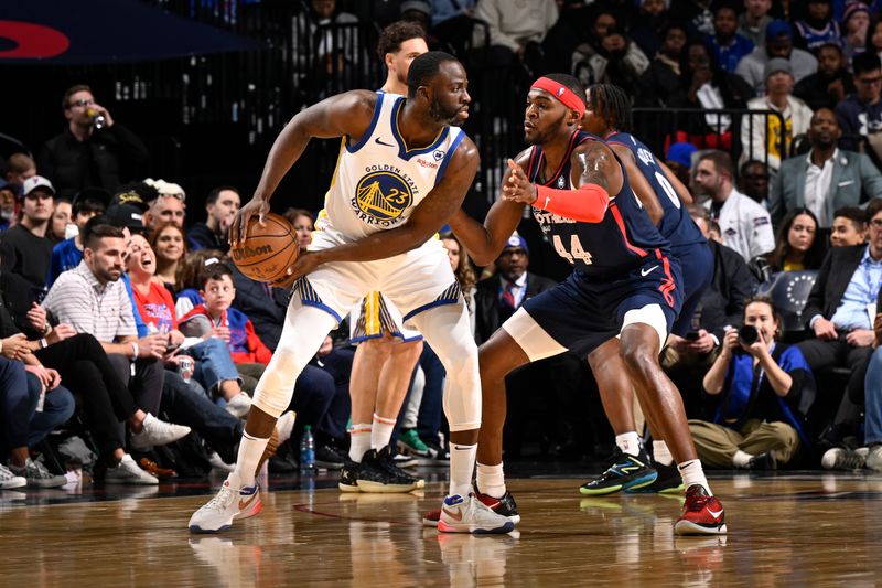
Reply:
M477 147L464 138L454 151L444 178L420 202L407 223L363 239L301 255L288 270L297 279L329 261L372 261L416 249L438 233L465 199L477 172ZM290 281L290 279L289 279Z

